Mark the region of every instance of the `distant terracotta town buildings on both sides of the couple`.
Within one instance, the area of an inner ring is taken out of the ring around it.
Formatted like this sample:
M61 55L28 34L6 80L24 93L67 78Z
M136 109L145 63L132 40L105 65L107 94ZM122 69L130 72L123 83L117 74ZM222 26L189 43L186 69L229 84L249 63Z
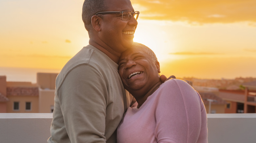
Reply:
M57 74L38 72L36 83L7 81L0 75L0 113L52 113ZM256 78L177 78L199 92L208 114L256 113Z

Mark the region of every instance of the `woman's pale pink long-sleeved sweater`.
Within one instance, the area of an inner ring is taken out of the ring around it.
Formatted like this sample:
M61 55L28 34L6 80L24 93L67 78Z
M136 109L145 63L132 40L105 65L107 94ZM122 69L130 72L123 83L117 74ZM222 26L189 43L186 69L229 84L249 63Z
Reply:
M119 124L117 143L207 143L203 101L185 81L168 80L137 105Z

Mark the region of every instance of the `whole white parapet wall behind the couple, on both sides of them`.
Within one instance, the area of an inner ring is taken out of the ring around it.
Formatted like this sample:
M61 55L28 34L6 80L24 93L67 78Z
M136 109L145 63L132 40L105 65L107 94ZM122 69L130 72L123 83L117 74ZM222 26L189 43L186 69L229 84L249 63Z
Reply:
M52 113L0 113L1 143L46 143ZM209 143L255 143L256 113L207 114Z

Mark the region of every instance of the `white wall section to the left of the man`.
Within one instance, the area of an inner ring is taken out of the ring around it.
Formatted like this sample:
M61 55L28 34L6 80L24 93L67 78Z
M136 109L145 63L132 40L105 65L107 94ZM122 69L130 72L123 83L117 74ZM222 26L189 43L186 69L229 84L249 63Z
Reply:
M46 143L53 113L0 113L1 143Z

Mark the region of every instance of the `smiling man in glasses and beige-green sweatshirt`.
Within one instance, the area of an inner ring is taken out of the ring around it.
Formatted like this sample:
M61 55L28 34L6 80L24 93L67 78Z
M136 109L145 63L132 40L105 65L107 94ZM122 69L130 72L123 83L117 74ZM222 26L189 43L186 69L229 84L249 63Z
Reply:
M56 78L48 143L115 143L116 129L132 97L117 71L133 44L139 11L130 0L85 0L82 19L89 34Z

